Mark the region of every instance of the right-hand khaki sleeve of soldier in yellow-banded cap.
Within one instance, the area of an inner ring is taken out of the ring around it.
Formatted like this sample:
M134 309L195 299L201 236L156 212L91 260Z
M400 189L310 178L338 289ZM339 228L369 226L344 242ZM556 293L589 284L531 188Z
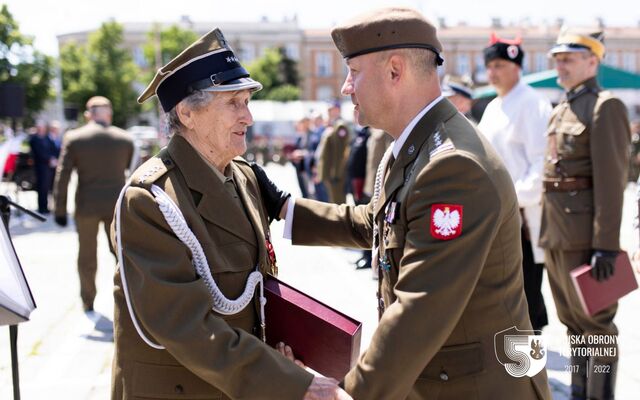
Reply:
M591 123L594 249L620 249L620 222L629 165L630 130L627 109L620 100L607 99L594 110Z

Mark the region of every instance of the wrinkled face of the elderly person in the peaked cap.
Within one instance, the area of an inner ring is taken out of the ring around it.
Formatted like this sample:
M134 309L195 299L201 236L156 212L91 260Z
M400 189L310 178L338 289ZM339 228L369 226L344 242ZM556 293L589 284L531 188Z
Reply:
M188 139L217 167L224 167L247 150L247 127L253 125L249 90L216 92L213 100L191 111Z

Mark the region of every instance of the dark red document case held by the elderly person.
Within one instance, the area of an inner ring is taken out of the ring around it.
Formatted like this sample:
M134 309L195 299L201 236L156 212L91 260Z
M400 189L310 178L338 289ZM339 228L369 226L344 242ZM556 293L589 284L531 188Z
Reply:
M309 368L342 379L358 359L362 323L272 276L264 289L267 344L284 342Z

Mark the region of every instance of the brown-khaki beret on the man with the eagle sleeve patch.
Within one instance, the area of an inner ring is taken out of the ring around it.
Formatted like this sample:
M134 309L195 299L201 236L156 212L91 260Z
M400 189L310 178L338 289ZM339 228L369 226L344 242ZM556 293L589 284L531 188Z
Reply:
M363 14L335 27L331 37L347 59L376 51L422 48L437 55L438 65L443 61L435 26L410 8L382 8Z

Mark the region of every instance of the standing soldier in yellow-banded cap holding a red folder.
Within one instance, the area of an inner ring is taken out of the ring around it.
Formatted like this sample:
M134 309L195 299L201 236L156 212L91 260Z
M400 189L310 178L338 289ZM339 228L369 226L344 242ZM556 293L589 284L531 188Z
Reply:
M551 292L568 334L587 341L618 334L617 304L589 316L569 273L591 264L593 277L602 281L615 272L630 137L624 104L596 80L604 52L602 32L579 30L563 30L551 49L566 94L549 122L543 178L540 245ZM572 398L614 398L617 349L610 356L598 356L599 350L572 346Z

